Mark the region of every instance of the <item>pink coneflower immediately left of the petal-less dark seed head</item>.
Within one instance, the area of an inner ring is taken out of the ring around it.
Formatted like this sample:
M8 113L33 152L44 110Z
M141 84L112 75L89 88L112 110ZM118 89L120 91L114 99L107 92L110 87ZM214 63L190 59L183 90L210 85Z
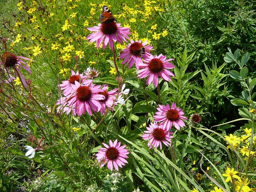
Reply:
M167 129L171 129L171 125L174 125L174 127L177 130L180 130L180 127L184 127L185 124L182 121L182 119L187 119L184 115L184 112L180 108L176 108L176 103L172 102L171 108L169 104L166 106L164 105L158 105L159 107L156 108L158 111L155 112L154 119L156 122L163 121L163 126Z

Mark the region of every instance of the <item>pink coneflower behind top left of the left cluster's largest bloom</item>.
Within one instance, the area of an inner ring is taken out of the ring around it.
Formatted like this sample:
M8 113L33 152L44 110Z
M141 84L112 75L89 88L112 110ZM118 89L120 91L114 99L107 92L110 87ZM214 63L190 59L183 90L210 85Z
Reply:
M83 73L79 74L77 71L76 73L71 70L71 76L67 81L62 81L62 84L59 85L60 89L63 90L63 95L68 96L69 94L76 91L75 89L75 81L78 83L83 83L85 85L89 85L92 83L92 80L85 80L86 76L83 75Z

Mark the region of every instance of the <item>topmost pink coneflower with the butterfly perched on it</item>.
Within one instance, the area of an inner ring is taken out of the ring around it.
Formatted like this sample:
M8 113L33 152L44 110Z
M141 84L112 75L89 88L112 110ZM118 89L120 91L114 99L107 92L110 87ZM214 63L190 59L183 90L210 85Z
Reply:
M113 51L114 42L118 41L123 44L122 41L126 41L126 39L130 39L128 34L130 33L130 28L120 26L121 23L117 23L115 21L110 23L101 23L98 26L87 28L89 31L94 31L96 33L92 33L88 35L86 39L90 39L90 43L96 41L97 49L99 49L101 43L103 42L102 49L104 50L109 43L111 50Z

